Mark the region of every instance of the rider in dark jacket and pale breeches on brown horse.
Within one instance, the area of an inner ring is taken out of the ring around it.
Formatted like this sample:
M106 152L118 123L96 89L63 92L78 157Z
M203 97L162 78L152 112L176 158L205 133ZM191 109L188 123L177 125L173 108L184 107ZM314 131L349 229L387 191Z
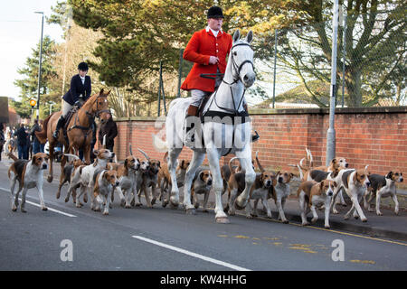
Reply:
M58 120L55 131L52 137L58 139L60 129L65 124L65 117L75 107L80 107L86 99L90 98L91 84L88 73L89 67L86 62L80 62L78 65L79 73L71 79L71 89L63 96L62 116ZM93 127L96 130L96 127Z

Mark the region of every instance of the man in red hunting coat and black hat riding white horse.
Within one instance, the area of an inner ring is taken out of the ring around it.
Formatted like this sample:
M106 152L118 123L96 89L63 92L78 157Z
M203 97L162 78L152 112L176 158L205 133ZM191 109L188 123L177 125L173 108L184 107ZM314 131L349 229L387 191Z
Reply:
M195 32L184 51L184 59L194 62L192 70L186 77L181 89L191 90L193 102L186 111L186 117L198 117L198 107L205 96L211 95L222 82L222 77L216 79L202 78L202 73L224 73L226 58L232 48L232 36L222 31L223 13L218 6L212 6L207 14L208 25L201 31ZM243 107L248 110L243 98ZM186 126L186 125L185 125ZM194 134L188 132L191 127L186 126L186 142L194 142ZM256 136L258 138L258 136ZM257 138L253 138L253 141Z

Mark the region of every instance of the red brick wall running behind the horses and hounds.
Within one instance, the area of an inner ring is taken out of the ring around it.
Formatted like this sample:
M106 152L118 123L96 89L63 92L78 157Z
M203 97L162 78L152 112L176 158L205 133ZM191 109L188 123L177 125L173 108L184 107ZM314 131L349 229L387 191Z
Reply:
M363 168L369 164L374 173L385 173L399 169L407 173L407 108L393 112L382 109L354 109L349 113L345 108L336 112L336 156L343 156L350 167ZM253 113L256 110L253 109ZM304 113L308 112L308 113ZM287 109L274 114L252 114L252 126L260 134L260 140L253 144L253 156L258 150L261 164L272 169L289 169L289 163L298 163L306 156L308 147L315 165L324 165L326 159L327 110ZM153 118L147 120L118 120L118 137L115 151L118 159L128 154L128 143L144 150L150 157L163 159L163 153L156 152L152 135L158 132ZM138 153L138 152L137 152ZM140 154L139 154L140 155ZM192 152L185 148L181 158L190 158ZM205 160L206 162L206 160Z

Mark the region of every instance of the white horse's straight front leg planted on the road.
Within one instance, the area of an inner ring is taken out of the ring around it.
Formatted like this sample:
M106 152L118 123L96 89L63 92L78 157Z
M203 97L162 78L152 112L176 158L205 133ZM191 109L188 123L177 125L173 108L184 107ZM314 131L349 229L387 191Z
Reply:
M218 223L229 223L229 219L224 213L222 206L223 180L221 175L221 167L219 166L219 159L221 158L221 155L219 154L218 149L214 147L207 149L206 153L213 178L212 189L215 194L215 219Z

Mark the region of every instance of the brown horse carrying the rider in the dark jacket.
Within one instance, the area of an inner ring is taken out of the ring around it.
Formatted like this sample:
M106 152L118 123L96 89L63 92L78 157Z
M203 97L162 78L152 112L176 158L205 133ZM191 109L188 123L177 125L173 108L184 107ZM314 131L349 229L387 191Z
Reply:
M60 130L58 140L55 140L52 137L52 132L56 128L58 119L62 115L62 111L53 113L50 117L45 118L43 121L43 130L40 132L35 132L35 135L37 135L40 143L44 144L47 138L50 143L50 172L48 174L48 182L52 182L53 148L56 144L58 144L58 142L65 146L65 154L79 152L79 149L82 148L85 163L90 164L90 142L92 140L91 124L94 117L98 117L102 124L108 120L108 115L110 114L108 101L109 93L110 91L104 93L103 89L101 89L99 93L96 93L88 98L83 106L73 114L70 123L67 126L69 145L65 141L62 129ZM62 170L65 163L66 157L64 156L62 157L61 162Z

